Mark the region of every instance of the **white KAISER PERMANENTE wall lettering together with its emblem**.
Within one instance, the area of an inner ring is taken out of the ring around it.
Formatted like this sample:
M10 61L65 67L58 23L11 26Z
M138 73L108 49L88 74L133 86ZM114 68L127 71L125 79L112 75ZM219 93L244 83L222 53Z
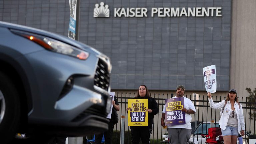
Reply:
M114 17L221 17L221 7L188 7L188 8L168 8L159 7L151 8L151 12L148 12L148 8L114 8ZM104 2L95 4L93 17L109 17L109 6Z

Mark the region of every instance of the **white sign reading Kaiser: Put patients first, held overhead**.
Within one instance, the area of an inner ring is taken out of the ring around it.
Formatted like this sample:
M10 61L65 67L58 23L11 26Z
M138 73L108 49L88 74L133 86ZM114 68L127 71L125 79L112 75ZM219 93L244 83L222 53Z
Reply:
M204 85L207 92L215 93L217 89L216 68L215 65L203 68Z

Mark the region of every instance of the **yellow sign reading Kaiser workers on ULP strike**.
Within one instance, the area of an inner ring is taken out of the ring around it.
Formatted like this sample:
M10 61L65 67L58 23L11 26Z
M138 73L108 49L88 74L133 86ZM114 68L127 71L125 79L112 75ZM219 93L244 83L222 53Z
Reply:
M148 99L128 99L128 126L148 126Z

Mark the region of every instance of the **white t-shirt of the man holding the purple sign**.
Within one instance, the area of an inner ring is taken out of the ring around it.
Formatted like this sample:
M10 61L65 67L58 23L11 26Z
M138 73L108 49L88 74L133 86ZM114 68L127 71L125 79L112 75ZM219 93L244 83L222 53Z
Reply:
M183 96L184 97L184 96ZM173 97L173 98L177 98L177 96ZM192 103L192 101L186 97L184 97L184 108L185 109L191 109L193 110L194 112L196 112L196 108L194 106L194 104ZM162 113L165 113L165 105L164 105L164 108L163 108L163 112ZM185 119L186 119L186 124L183 124L183 125L174 125L174 126L168 126L167 128L184 128L184 129L191 129L191 120L192 120L192 117L190 114L187 114L185 113Z

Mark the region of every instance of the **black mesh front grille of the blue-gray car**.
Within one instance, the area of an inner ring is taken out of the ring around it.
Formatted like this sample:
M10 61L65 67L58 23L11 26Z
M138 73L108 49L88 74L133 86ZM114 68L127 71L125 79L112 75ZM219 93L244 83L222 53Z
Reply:
M108 64L102 59L99 59L94 76L94 85L108 91L109 83L110 74L108 70Z

